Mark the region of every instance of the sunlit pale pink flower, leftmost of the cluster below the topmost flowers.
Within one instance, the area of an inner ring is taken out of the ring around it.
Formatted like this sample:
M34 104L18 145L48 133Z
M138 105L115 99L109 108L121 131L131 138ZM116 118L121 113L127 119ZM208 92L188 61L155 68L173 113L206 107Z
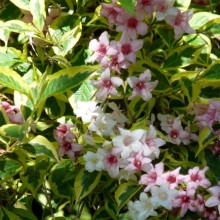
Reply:
M93 51L93 55L87 60L87 62L97 61L101 65L107 65L109 58L108 56L113 56L118 53L118 51L110 46L108 32L103 32L99 41L93 39L89 43L89 49Z

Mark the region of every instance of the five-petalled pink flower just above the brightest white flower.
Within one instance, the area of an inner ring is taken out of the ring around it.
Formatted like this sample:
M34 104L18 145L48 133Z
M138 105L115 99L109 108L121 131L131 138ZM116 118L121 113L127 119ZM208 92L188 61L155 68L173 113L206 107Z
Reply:
M110 70L106 69L101 74L100 80L93 80L92 85L98 88L96 92L97 99L106 99L108 95L117 96L118 92L116 87L121 86L123 84L122 79L119 77L111 77Z

